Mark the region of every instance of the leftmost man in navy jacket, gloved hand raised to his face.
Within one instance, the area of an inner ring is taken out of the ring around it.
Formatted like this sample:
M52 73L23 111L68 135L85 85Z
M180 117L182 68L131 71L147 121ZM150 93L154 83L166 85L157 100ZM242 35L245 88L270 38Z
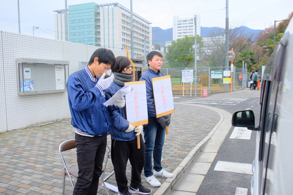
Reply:
M105 89L113 77L105 73L116 63L111 50L97 49L88 65L71 74L67 81L67 93L71 124L75 127L78 177L73 195L96 195L107 143L107 131L111 120L105 102ZM125 100L115 102L124 106Z

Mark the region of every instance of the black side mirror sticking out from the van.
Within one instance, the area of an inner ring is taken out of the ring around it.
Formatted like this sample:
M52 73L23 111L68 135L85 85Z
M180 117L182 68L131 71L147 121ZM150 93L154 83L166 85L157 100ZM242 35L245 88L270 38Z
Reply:
M255 117L252 110L236 111L232 115L232 126L254 128Z

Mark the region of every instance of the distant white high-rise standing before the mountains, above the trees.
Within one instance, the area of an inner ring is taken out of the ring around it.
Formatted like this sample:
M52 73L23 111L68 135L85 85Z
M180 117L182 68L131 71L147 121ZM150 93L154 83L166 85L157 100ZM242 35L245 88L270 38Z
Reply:
M196 35L200 36L200 15L196 16ZM184 38L185 36L192 37L195 35L194 18L179 18L173 17L173 40Z

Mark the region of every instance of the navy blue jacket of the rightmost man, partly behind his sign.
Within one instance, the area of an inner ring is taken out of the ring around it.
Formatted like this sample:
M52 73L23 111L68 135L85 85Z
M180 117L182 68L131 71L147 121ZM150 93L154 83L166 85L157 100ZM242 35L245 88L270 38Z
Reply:
M155 108L155 100L154 93L152 88L152 78L164 77L165 75L158 70L158 72L151 70L150 68L143 74L143 76L139 79L146 81L146 99L147 99L147 113L150 117L156 118L156 108Z

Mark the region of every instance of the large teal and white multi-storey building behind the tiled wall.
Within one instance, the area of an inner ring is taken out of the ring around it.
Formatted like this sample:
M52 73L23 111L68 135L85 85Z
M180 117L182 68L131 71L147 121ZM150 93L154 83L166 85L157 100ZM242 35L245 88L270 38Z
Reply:
M68 6L68 23L70 42L125 51L128 46L129 56L131 56L130 10L123 5L94 2L70 5ZM145 39L146 53L151 51L152 27L150 24L151 22L133 13L134 58L144 56ZM56 24L55 31L58 31ZM55 39L58 38L55 36Z

